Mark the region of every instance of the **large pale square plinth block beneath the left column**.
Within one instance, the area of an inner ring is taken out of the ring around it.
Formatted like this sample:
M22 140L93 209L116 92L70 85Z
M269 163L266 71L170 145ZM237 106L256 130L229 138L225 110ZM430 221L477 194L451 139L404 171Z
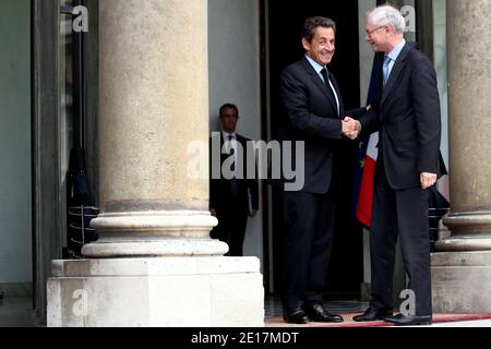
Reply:
M256 257L53 261L49 327L260 327Z

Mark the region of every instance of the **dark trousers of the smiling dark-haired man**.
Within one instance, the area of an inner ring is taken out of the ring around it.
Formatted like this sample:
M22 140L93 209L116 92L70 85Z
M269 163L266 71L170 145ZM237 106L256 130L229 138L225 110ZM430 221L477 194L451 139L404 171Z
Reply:
M283 305L322 301L333 243L332 193L285 192L284 221Z

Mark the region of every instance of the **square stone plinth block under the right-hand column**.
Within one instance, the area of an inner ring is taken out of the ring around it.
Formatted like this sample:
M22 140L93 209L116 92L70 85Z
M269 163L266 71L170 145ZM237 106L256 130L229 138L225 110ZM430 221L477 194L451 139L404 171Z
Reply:
M491 314L491 251L431 255L434 313Z

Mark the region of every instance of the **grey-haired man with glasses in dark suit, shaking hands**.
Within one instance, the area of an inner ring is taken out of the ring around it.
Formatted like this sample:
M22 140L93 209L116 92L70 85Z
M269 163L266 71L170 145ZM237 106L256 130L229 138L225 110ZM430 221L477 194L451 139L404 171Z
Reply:
M362 131L380 131L380 142L370 229L372 300L366 313L355 317L397 325L432 320L427 189L441 171L436 73L428 58L404 40L405 26L403 15L391 7L375 9L367 21L367 41L384 59L376 103L360 119ZM391 316L397 237L416 310Z

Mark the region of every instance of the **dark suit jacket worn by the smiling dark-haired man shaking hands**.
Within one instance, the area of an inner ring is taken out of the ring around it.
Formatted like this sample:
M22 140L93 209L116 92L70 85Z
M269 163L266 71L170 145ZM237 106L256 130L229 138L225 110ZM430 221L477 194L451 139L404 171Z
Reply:
M337 81L331 73L330 80L339 99L339 116L344 117L346 113ZM283 71L279 97L284 107L284 117L278 129L279 141L304 142L306 172L301 191L325 194L331 186L335 147L342 139L342 119L337 115L332 89L303 57ZM301 161L297 164L299 159L296 159L295 148L291 153L290 164L299 166ZM285 181L282 177L282 186Z

